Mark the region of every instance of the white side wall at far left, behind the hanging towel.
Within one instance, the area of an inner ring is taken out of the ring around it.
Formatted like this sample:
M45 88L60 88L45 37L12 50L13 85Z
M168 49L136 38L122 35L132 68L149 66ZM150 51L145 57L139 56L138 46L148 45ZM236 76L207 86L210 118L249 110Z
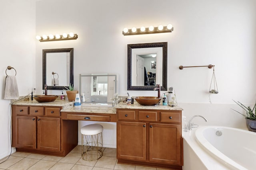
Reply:
M20 96L36 87L36 1L2 0L0 5L0 159L10 154L10 100L4 100L5 70L16 69ZM8 75L15 71L7 70Z

